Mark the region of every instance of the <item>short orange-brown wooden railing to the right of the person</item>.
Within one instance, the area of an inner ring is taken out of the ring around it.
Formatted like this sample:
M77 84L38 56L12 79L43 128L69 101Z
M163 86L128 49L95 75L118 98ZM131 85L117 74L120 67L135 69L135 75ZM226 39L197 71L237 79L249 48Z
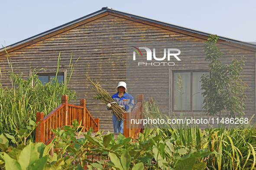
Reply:
M124 113L123 115L123 135L127 137L137 138L139 132L143 133L143 94L138 94L138 103L132 113Z

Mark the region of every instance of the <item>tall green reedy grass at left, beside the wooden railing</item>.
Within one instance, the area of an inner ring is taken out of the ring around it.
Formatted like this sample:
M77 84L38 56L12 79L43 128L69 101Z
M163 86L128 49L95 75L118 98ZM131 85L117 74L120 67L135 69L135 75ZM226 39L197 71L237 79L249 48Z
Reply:
M31 126L31 120L36 122L36 112L44 112L45 115L50 113L61 104L62 94L68 95L69 100L76 99L75 91L71 91L67 87L74 66L70 64L70 74L69 77L66 77L66 82L58 83L57 74L61 60L59 54L56 79L54 78L51 82L42 85L42 82L38 79L36 69L25 80L22 73L15 74L13 72L13 66L7 52L6 57L11 70L8 73L12 87L3 87L0 70L0 132L13 135L16 142L20 142L17 137L18 134L21 132L28 134L33 130L29 126ZM35 139L35 131L29 135L27 140L29 139Z

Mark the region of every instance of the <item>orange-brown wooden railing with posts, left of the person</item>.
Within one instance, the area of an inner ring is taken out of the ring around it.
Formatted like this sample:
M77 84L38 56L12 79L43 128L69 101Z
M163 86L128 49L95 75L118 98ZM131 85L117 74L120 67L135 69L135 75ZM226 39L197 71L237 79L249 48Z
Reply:
M85 99L80 100L80 106L68 104L68 96L62 95L62 104L52 110L47 116L43 112L36 113L36 142L48 144L55 134L51 129L62 128L62 126L72 126L73 120L78 120L83 127L83 132L92 128L94 132L100 129L100 119L91 116L85 107Z

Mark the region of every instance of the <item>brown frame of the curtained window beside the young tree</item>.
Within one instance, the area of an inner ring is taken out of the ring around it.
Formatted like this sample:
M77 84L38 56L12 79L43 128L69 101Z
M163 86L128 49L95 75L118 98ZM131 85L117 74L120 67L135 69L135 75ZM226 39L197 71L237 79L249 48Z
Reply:
M190 110L174 110L174 74L177 72L190 72ZM208 72L208 69L189 69L189 70L184 70L184 69L177 69L177 70L172 70L169 69L169 112L181 112L181 111L188 111L188 112L202 112L206 110L193 110L193 72ZM210 72L211 76L211 72Z

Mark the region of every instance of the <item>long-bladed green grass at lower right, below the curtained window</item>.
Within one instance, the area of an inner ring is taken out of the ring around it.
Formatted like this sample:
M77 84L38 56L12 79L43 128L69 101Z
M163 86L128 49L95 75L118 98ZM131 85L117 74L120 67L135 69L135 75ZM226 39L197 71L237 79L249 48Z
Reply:
M175 115L165 115L161 113L156 100L144 102L143 113L150 119L170 119ZM249 123L250 124L250 123ZM148 125L146 128L152 128L152 133L162 135L162 138L174 138L188 149L203 149L216 151L218 154L212 154L205 157L202 162L212 170L253 170L256 167L256 126L245 129L219 129L208 128L200 129L198 126L191 126L187 129L179 126L159 126Z

